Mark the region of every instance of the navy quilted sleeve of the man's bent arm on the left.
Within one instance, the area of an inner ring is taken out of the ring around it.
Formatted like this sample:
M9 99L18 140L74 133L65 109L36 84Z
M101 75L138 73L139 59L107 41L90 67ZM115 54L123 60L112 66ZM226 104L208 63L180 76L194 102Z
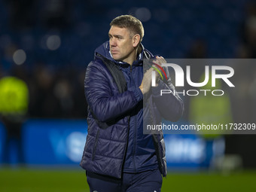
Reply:
M111 81L114 80L107 70L100 62L90 62L84 80L87 103L96 119L102 122L120 117L142 100L142 93L136 89L113 94ZM118 92L117 87L116 92Z

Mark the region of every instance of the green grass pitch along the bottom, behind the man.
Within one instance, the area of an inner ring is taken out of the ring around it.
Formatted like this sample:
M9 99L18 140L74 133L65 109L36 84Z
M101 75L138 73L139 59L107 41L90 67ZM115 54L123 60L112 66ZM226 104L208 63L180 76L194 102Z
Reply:
M163 178L162 192L247 192L256 191L256 172L169 173ZM83 170L3 169L1 192L89 192Z

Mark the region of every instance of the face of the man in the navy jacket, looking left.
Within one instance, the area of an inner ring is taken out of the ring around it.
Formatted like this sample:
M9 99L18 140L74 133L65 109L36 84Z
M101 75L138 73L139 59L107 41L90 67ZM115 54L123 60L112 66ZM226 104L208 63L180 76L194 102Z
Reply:
M127 62L133 56L133 38L126 28L111 26L109 32L109 47L111 55L115 60Z

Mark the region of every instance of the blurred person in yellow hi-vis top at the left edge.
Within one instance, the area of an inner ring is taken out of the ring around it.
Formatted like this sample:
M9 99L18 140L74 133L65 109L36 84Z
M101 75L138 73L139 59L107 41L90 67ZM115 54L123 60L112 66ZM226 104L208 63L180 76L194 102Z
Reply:
M22 126L26 120L28 106L29 88L26 82L14 76L1 78L0 114L7 133L3 147L3 163L11 163L11 151L14 148L14 151L17 151L17 163L25 163Z

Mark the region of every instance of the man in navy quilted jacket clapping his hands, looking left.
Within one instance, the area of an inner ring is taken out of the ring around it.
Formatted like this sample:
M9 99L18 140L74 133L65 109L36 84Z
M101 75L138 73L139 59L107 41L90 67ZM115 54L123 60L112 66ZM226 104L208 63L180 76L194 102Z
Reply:
M163 134L143 134L142 99L147 95L150 101L144 113L154 113L152 122L160 122L166 111L163 117L178 120L183 102L178 95L160 97L159 89L174 89L168 72L168 81L158 80L152 88L153 69L143 75L143 59L154 56L141 44L142 23L122 15L110 26L109 41L96 49L85 75L88 135L81 166L90 191L160 192L166 176ZM155 62L165 60L158 56Z

